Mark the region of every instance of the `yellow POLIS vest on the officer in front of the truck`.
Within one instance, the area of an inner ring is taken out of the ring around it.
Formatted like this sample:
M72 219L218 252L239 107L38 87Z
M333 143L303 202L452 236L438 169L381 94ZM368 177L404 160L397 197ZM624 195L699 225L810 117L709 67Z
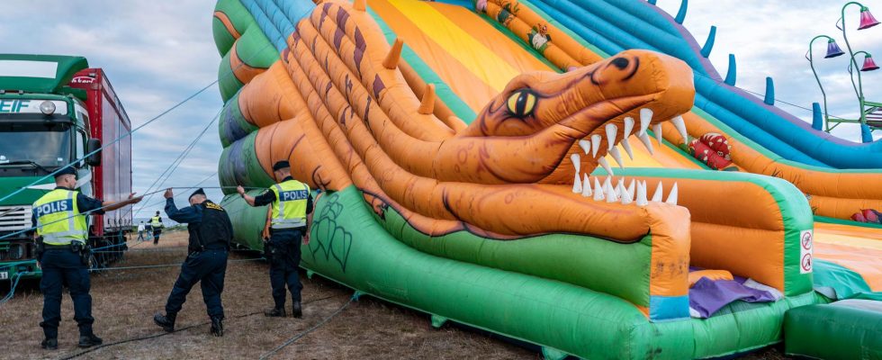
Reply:
M55 189L33 203L33 215L37 218L37 234L43 243L67 245L71 241L85 244L88 225L85 215L76 206L76 192Z

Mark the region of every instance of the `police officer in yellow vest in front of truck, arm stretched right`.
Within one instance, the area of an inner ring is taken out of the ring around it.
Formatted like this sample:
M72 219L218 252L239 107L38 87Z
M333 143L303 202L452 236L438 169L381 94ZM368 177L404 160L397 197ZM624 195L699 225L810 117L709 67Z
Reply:
M88 258L86 248L89 232L86 212L103 214L140 202L141 197L129 195L123 202L101 202L74 190L76 170L65 167L55 175L55 190L33 203L31 221L38 241L37 260L42 269L40 291L43 293L43 328L45 339L40 347L58 348L58 323L61 321L61 288L67 284L74 301L74 320L79 327L79 347L101 345L94 335L92 296L89 295Z

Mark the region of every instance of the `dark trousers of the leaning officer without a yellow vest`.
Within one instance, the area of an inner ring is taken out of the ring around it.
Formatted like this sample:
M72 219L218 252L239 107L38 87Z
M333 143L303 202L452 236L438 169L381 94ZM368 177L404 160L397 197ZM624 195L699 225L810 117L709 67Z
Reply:
M223 278L227 273L227 250L205 250L187 256L181 265L181 275L177 276L175 287L168 295L166 315L177 314L187 301L187 293L193 285L202 286L202 301L208 308L210 318L223 319L223 305L220 293L223 293Z

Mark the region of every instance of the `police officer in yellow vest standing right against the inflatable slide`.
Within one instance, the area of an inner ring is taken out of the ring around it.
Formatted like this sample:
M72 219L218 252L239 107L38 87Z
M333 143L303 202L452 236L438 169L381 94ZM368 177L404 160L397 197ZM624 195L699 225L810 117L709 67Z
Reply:
M309 218L312 213L312 195L310 186L294 180L291 166L287 161L279 161L273 166L276 181L281 183L269 188L266 193L252 197L238 186L238 193L251 206L272 204L273 213L270 226L270 240L264 246L269 247L270 284L273 285L275 307L264 311L269 317L284 317L285 284L291 292L294 318L302 317L300 276L301 237L303 243L310 241Z

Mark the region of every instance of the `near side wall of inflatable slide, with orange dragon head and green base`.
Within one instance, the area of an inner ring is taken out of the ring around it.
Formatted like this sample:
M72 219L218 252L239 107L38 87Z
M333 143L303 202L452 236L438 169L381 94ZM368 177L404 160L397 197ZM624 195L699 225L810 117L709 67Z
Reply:
M311 273L549 357L730 355L780 341L784 311L822 302L799 267L812 214L793 185L599 169L622 131L689 111L695 93L682 61L641 50L601 60L561 40L545 49L549 60L590 65L517 76L470 117L401 41L387 42L389 28L365 2L311 8L220 0L214 28L229 59L219 72L228 84L221 184L268 186L270 166L287 159L296 178L324 190L302 248ZM582 179L618 185L592 198L576 191ZM238 244L262 247L266 208L237 195L222 204ZM692 320L690 265L752 277L786 297Z

